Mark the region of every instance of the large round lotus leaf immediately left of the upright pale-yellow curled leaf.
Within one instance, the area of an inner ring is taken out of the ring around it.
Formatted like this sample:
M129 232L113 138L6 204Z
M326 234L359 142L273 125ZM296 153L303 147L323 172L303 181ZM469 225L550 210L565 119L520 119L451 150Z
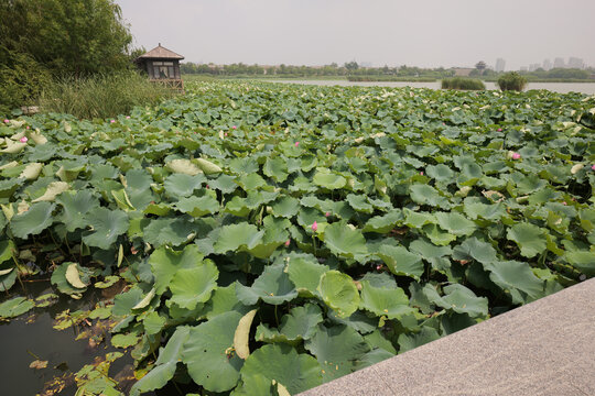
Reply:
M245 363L232 352L232 346L241 317L239 312L226 312L190 329L182 362L192 380L207 391L229 391L239 380Z

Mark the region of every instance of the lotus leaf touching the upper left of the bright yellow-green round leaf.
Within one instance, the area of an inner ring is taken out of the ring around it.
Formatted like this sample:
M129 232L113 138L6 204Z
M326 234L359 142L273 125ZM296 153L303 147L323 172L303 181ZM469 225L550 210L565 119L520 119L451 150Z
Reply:
M316 296L321 276L331 268L327 265L318 264L316 258L310 255L290 255L288 258L285 272L300 296Z

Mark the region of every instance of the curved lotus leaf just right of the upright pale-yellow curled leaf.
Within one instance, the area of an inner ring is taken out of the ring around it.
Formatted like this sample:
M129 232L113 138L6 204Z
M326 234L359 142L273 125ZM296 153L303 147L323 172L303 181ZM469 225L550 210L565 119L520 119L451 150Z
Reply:
M256 340L296 344L301 340L312 338L322 321L322 310L317 305L306 304L294 307L281 318L279 330L271 330L267 324L261 323L257 328Z

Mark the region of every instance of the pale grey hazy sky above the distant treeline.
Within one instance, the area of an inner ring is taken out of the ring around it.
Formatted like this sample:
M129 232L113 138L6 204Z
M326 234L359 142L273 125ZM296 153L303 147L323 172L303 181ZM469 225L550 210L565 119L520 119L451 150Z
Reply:
M518 69L595 65L594 0L116 0L137 46L187 62Z

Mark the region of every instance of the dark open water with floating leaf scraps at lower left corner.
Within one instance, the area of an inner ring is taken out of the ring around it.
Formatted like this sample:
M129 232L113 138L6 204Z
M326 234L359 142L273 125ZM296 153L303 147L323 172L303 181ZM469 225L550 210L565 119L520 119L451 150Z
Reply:
M48 282L25 283L26 289L23 292L15 285L10 296L18 295L30 298L37 297L45 293L52 293ZM74 395L76 385L74 374L85 364L94 362L96 356L105 356L108 352L117 351L109 343L109 336L98 345L89 343L88 339L75 340L77 331L88 329L87 326L71 327L58 331L53 328L55 317L69 309L88 310L101 298L97 290L85 294L80 300L61 296L60 300L46 308L34 308L28 314L12 319L10 322L0 322L0 395L2 396L32 396L43 394L44 384L56 376L69 376L66 381L68 386L60 395ZM89 322L95 322L89 319ZM123 352L122 350L119 350ZM47 367L35 370L29 365L36 360L47 361ZM130 371L132 359L125 355L112 363L110 376L113 377L122 371L126 365ZM69 375L72 374L72 375Z

